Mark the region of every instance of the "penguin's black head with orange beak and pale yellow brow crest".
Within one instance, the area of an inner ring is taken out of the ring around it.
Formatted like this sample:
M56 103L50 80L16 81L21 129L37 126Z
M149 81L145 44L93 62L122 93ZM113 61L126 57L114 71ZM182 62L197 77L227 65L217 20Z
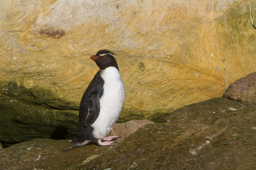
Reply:
M116 67L116 69L119 70L115 57L116 56L114 56L114 53L112 51L107 49L102 49L102 50L99 50L96 53L96 55L92 55L90 59L95 61L95 63L101 70L105 70L106 68L111 66Z

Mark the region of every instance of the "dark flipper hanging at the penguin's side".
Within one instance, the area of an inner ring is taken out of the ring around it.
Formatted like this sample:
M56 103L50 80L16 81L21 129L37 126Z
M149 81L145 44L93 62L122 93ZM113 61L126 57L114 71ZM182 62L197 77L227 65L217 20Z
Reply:
M84 126L90 126L96 121L100 114L100 90L91 92L87 99L88 113Z

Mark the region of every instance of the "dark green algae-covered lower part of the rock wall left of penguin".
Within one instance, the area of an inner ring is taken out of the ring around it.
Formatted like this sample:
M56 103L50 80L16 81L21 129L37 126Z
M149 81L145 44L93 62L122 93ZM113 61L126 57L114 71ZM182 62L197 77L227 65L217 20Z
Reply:
M1 143L4 147L34 138L66 139L76 135L78 107L45 89L9 82L1 87Z

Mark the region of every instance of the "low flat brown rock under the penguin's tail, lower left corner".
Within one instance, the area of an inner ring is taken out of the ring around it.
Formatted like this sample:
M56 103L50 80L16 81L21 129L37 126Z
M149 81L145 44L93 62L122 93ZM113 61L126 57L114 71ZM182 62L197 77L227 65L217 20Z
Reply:
M62 150L69 140L33 139L0 150L0 169L74 169L92 155L108 152L113 147L89 144L70 152Z

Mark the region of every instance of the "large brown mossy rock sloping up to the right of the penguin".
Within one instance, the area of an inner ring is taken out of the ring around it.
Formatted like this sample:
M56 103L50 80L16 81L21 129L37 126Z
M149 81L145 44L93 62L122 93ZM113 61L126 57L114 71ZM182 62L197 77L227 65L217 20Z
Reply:
M237 109L237 110L236 110ZM253 169L256 105L213 98L148 124L80 169Z

